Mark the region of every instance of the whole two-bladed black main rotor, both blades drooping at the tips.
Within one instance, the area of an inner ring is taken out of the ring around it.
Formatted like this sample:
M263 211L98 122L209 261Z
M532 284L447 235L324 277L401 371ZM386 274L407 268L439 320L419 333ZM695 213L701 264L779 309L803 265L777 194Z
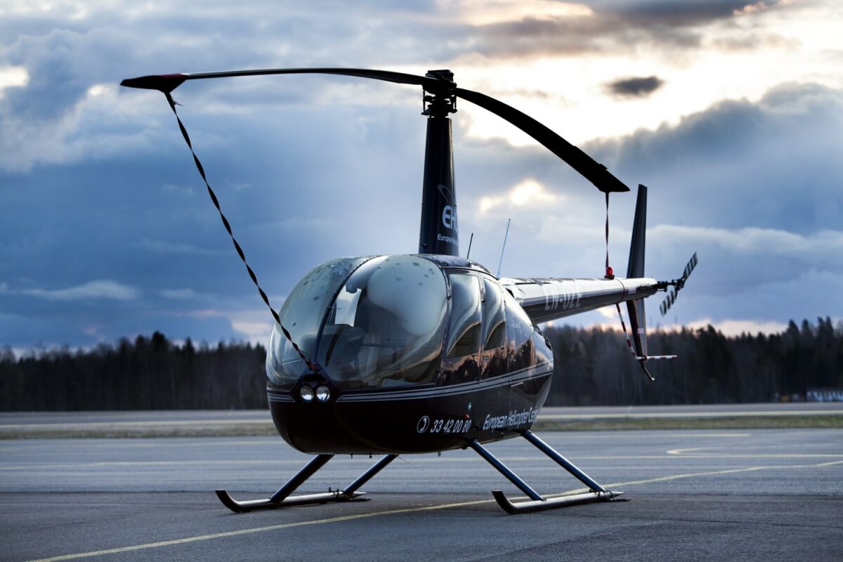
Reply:
M429 76L416 76L404 72L391 72L386 70L368 70L365 68L265 68L258 70L234 70L228 72L192 72L182 74L160 74L157 76L142 76L139 78L127 78L121 82L121 86L128 88L145 88L160 90L165 93L172 92L186 80L199 80L203 78L234 78L238 76L266 76L269 74L335 74L338 76L354 76L357 78L373 78L400 84L415 84L424 87L432 94L456 95L459 98L470 101L472 104L480 105L483 109L507 120L518 129L532 136L536 141L564 160L573 169L577 170L588 179L597 189L604 193L611 191L629 191L626 185L609 173L609 170L583 153L582 150L567 142L564 138L550 131L549 128L534 120L529 115L516 110L511 105L491 98L486 94L473 92L464 88L457 88L456 84L443 78L431 78Z

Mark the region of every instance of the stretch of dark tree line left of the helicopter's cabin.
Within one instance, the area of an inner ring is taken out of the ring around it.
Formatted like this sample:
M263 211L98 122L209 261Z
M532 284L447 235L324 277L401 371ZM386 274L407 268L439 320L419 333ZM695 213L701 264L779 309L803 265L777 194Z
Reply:
M33 352L0 351L0 409L266 408L266 350L260 345L191 340L160 332L117 345Z

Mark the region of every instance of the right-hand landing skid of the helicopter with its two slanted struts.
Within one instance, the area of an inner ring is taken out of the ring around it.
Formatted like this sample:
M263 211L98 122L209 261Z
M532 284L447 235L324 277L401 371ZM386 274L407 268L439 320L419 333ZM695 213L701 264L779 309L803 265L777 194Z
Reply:
M507 468L507 465L505 465L500 460L498 460L497 457L492 455L491 452L486 449L486 447L483 447L480 442L474 440L470 442L470 447L474 449L475 452L477 452L477 454L479 454L482 458L486 459L487 463L495 467L498 472L506 476L510 482L515 484L516 487L518 487L518 490L521 490L522 492L524 492L524 494L529 497L529 501L520 501L518 503L513 503L501 490L492 491L491 495L494 496L495 500L497 501L497 505L501 506L503 511L506 511L510 515L515 515L518 513L529 513L531 511L544 511L547 509L556 509L557 507L578 506L581 504L593 503L595 501L621 500L618 496L623 494L623 492L606 490L603 486L601 486L600 484L595 482L590 476L588 476L588 474L585 474L582 470L574 466L571 461L562 457L561 454L556 452L553 447L550 447L550 445L543 442L539 437L535 436L532 431L524 430L521 432L521 436L523 436L524 439L532 443L541 452L544 452L545 455L556 461L556 463L558 463L562 468L565 468L580 482L587 485L588 489L591 491L586 492L585 494L563 495L561 497L556 498L543 498L538 492L530 488L529 484L519 478L518 474L513 473L512 470Z

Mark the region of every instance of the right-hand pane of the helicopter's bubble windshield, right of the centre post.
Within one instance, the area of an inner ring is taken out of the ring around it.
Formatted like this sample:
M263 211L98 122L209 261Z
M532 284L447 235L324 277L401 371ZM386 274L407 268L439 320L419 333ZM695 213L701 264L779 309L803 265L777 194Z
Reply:
M432 262L407 255L370 260L328 311L317 361L348 390L432 383L446 299L442 271Z

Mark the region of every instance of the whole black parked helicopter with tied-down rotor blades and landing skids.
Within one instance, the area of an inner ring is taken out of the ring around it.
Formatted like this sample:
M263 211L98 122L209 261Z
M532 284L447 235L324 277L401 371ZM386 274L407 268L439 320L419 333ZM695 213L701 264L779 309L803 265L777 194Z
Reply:
M333 74L421 86L427 117L421 227L416 254L373 254L330 260L293 288L280 310L271 307L209 184L171 93L189 80L273 74ZM270 497L234 500L242 513L287 506L362 500L363 484L399 455L471 448L529 499L493 497L510 514L595 501L623 500L542 441L530 428L550 391L553 351L538 324L626 302L632 355L645 363L673 356L647 355L643 301L671 292L662 313L696 265L683 276L657 281L644 276L647 187L639 185L626 277L609 267L603 278L500 277L459 255L451 114L463 99L491 111L532 136L588 179L606 197L630 189L579 148L510 105L458 88L449 70L425 76L353 68L271 68L177 73L121 82L164 93L193 154L208 194L260 296L275 321L266 354L266 393L278 433L298 451L314 454ZM547 498L484 445L523 437L579 479L588 492ZM341 490L293 495L338 454L383 455Z

